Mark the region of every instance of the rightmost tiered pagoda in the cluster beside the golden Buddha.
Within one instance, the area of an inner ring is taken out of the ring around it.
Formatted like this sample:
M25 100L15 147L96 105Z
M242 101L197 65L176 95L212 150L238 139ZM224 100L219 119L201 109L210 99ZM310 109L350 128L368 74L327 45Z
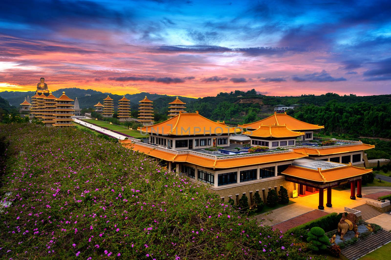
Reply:
M53 126L75 126L72 124L72 119L71 117L74 115L74 105L72 104L73 99L70 99L65 95L65 92L56 99L57 104L56 109L54 110L54 115L56 115L56 121Z

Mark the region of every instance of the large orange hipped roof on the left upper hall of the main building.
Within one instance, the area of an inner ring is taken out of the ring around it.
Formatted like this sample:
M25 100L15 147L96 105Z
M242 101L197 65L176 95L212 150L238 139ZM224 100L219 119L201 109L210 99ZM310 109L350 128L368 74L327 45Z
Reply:
M146 133L192 135L192 134L228 134L240 131L235 127L225 127L221 124L209 120L197 113L179 113L164 122L153 126L138 127L140 131Z

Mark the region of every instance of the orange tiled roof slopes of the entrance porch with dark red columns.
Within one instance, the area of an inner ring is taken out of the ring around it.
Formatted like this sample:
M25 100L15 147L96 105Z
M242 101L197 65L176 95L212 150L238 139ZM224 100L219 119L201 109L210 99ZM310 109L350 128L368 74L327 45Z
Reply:
M305 180L313 180L316 182L332 182L335 180L347 179L350 177L360 176L365 173L372 172L372 169L365 169L356 166L346 165L338 168L326 170L308 169L300 166L289 165L282 173L292 177L297 177Z

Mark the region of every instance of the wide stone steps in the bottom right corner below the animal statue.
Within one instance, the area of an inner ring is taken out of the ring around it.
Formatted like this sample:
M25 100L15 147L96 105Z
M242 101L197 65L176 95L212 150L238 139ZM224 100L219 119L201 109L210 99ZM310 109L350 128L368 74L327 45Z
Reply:
M383 229L355 244L347 246L341 250L341 253L349 260L355 260L389 241L391 241L391 233Z

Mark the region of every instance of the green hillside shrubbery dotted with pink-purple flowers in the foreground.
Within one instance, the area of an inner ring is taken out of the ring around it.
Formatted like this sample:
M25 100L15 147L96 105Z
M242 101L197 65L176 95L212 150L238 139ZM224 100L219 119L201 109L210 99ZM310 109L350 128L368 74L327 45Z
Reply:
M202 184L93 134L3 124L0 153L0 258L308 258Z

